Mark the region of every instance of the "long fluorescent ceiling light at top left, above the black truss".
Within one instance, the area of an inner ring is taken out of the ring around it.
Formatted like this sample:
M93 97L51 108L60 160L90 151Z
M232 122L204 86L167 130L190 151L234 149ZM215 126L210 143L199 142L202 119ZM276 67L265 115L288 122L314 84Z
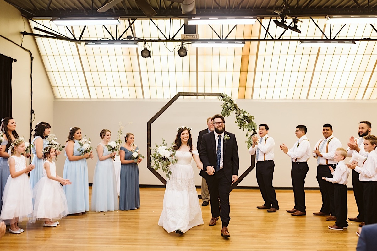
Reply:
M119 17L67 17L51 20L56 26L120 24Z

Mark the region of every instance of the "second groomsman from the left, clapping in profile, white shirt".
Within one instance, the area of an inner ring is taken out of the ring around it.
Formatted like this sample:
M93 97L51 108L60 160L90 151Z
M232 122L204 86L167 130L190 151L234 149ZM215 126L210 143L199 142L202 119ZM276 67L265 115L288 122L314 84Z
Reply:
M306 215L305 207L305 178L309 171L308 159L310 159L311 150L310 142L306 136L307 127L304 125L296 126L296 137L299 138L291 149L285 144L280 145L280 149L283 150L288 156L291 157L292 169L291 178L294 194L294 208L287 210L293 216Z

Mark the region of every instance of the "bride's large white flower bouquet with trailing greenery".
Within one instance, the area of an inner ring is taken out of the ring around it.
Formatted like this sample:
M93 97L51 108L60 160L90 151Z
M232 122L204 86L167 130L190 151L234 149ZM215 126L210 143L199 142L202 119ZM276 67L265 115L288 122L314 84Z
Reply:
M155 168L155 170L161 168L166 174L166 178L170 179L172 171L170 170L169 166L170 164L175 164L177 162L177 159L174 158L175 150L173 147L167 147L165 140L162 139L161 145L156 144L156 147L151 147L150 150L152 152L150 157L152 158L153 168Z

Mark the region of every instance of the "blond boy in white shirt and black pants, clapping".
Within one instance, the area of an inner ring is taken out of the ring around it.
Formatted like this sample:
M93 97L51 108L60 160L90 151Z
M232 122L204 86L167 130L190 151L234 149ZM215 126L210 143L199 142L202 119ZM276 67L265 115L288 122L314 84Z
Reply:
M334 153L334 161L337 161L335 170L333 167L329 166L333 178L323 177L322 179L329 181L334 184L334 204L335 211L337 212L337 221L334 225L330 225L329 229L340 230L348 228L347 214L347 182L349 169L344 163L344 159L347 157L347 151L339 147Z

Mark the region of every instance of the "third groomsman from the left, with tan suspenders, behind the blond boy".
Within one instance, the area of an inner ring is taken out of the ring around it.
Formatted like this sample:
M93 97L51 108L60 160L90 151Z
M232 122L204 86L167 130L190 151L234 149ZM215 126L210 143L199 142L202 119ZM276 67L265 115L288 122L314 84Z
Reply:
M317 158L317 182L322 195L322 207L318 213L313 214L329 216L326 220L331 221L336 220L337 216L334 203L334 184L322 178L333 178L329 167L335 170L336 161L334 160L334 153L337 148L342 147L342 143L334 137L333 126L330 124L323 125L322 135L325 138L320 139L313 149L313 157Z

